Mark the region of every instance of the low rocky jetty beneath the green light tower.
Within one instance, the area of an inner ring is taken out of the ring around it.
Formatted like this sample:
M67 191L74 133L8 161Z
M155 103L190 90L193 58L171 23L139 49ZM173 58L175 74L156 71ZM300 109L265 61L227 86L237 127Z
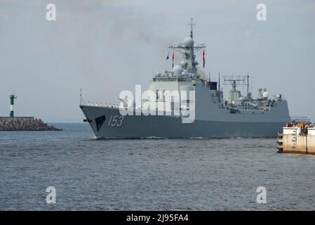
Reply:
M0 117L0 131L61 131L34 117Z

